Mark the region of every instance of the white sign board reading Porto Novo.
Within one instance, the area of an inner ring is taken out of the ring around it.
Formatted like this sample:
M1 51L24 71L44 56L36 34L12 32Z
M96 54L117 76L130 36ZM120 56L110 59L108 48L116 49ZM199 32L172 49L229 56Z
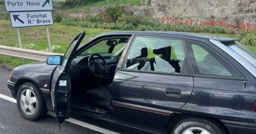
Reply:
M52 10L52 0L4 0L7 11Z

